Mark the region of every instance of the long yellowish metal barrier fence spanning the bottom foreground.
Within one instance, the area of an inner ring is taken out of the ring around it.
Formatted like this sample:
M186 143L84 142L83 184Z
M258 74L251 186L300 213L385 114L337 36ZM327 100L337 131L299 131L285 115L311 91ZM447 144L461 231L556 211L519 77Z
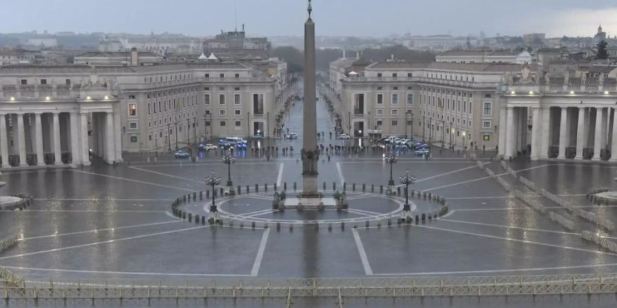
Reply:
M46 285L47 283L47 285ZM617 292L616 274L569 274L503 277L389 277L348 279L245 279L186 281L29 282L5 287L5 299L99 298L291 298L424 297L607 294ZM35 286L37 285L37 286Z

